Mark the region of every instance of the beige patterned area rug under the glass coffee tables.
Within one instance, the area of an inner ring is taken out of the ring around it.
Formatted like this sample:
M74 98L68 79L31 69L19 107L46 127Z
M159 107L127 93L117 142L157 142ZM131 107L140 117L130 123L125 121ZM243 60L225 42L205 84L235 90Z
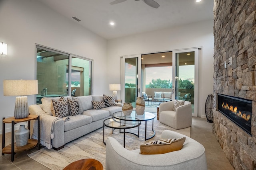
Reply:
M128 150L139 149L140 145L146 144L150 141L159 140L162 131L166 129L176 131L190 137L190 127L176 130L154 119L154 130L156 132L156 135L152 139L145 141L145 122L142 122L142 124L140 125L140 137L136 137L135 135L126 133L125 148ZM133 129L127 129L126 132L127 131L138 134L138 127ZM104 135L105 141L107 137L111 136L114 137L121 145L123 145L124 134L119 133L118 129L116 129L114 131L114 134L112 134L112 129L105 127ZM148 121L147 137L150 137L152 135L152 121ZM100 161L105 170L106 146L103 143L103 127L74 141L71 141L70 143L67 143L63 149L60 149L58 151L43 148L31 154L28 154L28 156L52 170L62 170L65 166L76 160L93 158Z

